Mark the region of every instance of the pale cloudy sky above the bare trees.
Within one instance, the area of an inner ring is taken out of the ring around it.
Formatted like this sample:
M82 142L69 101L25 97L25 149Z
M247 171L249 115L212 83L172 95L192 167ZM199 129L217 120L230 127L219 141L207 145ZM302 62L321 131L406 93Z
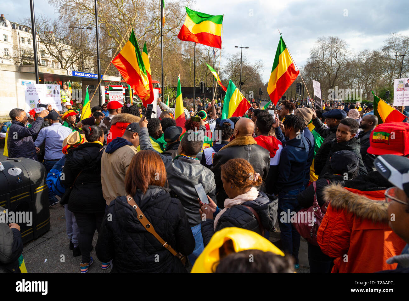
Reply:
M9 20L30 16L28 0L4 2L1 14ZM34 2L36 14L53 16L47 0ZM263 61L264 81L270 77L280 38L277 28L299 67L320 36L339 36L359 52L380 48L392 32L409 35L408 0L196 0L190 8L225 14L222 54L236 52L234 46L243 41L250 47L243 50L250 61Z

